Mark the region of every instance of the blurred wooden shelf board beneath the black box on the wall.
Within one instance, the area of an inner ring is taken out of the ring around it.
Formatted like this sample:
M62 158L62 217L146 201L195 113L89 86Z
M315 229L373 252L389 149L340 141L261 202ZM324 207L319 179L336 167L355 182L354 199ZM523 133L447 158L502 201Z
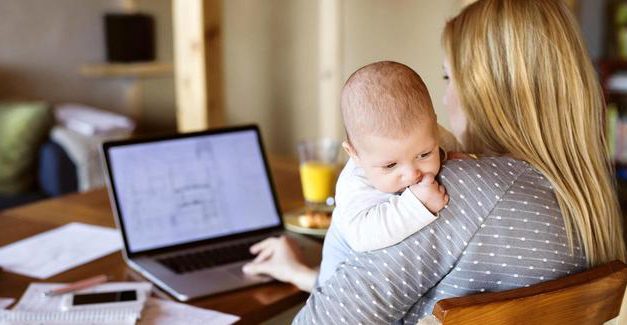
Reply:
M80 74L85 77L157 78L172 76L174 65L167 62L92 63L83 64Z

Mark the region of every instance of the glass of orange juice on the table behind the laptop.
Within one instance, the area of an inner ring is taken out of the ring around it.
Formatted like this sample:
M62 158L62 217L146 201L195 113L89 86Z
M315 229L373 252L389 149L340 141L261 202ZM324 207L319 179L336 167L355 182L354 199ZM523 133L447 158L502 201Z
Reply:
M308 210L333 210L338 174L339 141L312 139L298 143L300 181Z

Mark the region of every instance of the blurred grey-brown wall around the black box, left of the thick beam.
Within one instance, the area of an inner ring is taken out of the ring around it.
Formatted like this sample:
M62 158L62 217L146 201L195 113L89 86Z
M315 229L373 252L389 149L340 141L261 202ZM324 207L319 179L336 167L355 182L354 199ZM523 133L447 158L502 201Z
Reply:
M130 80L78 74L81 64L104 61L102 15L119 12L120 5L112 0L0 1L0 99L79 102L129 114ZM140 6L156 14L157 58L171 60L170 1L145 0ZM142 85L146 124L174 129L172 78Z

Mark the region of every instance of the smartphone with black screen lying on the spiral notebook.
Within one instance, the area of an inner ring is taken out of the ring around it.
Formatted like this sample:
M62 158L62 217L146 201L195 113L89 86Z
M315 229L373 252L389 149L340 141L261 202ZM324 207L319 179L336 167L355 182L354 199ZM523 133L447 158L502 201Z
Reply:
M64 297L63 310L130 307L140 301L137 290L72 293Z

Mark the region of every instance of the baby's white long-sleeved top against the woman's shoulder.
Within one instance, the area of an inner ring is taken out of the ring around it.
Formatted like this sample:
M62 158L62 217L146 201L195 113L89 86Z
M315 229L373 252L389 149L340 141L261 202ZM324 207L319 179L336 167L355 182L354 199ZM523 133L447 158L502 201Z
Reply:
M410 190L387 194L358 175L343 172L340 178L332 222L357 252L395 245L436 219Z

